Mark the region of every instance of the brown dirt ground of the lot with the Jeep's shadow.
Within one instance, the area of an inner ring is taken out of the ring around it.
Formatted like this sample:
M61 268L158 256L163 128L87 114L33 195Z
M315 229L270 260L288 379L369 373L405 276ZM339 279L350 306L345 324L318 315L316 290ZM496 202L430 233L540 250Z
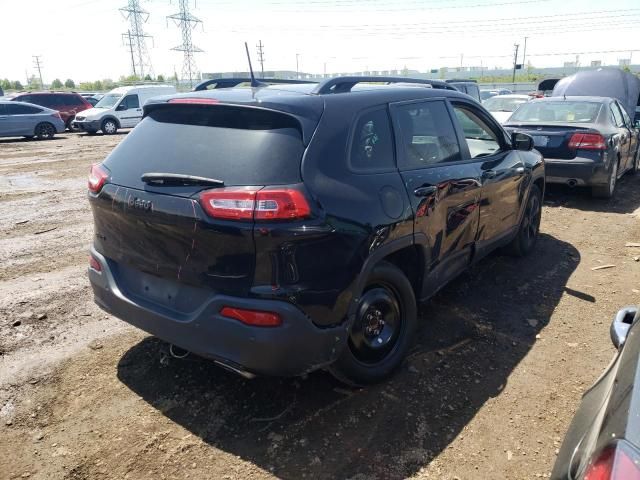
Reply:
M177 360L94 306L86 177L123 138L0 140L0 478L549 476L639 300L640 177L611 201L552 189L535 254L455 280L402 370L353 390Z

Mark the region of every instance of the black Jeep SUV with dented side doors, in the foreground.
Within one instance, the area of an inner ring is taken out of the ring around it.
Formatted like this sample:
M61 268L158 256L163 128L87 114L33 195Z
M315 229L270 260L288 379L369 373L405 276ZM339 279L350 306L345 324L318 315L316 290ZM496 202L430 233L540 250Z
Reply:
M387 80L412 85L147 103L89 177L98 305L246 377L388 376L417 301L498 247L534 247L544 163L443 82Z

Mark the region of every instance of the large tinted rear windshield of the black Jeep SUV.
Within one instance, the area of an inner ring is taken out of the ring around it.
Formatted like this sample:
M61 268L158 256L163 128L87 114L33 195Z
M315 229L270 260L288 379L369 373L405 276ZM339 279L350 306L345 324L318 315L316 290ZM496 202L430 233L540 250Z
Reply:
M144 173L216 178L225 186L300 182L298 121L269 110L167 105L152 110L105 160L117 185L145 188ZM188 190L188 189L187 189Z

